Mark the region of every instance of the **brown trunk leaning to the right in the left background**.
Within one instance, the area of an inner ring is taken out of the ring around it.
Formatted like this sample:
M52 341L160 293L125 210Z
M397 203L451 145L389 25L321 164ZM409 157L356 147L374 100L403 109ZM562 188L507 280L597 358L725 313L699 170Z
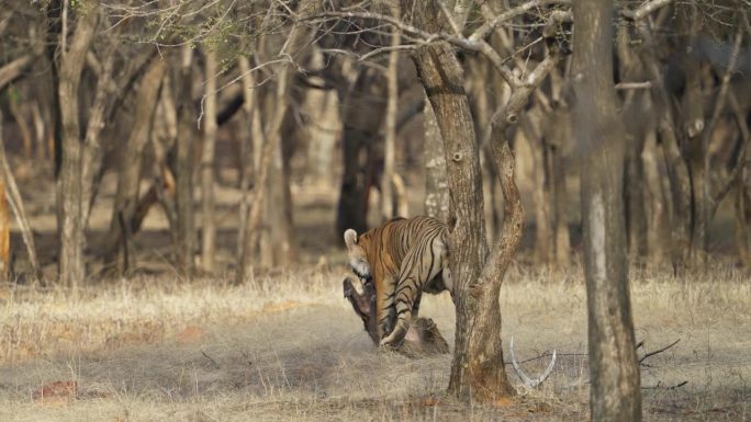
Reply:
M138 106L133 117L133 130L131 130L127 144L125 144L125 148L121 152L117 193L112 208L110 233L108 236L109 244L104 258L108 267L116 264L117 252L121 249L123 258L133 256L132 237L139 226L136 210L138 208L138 187L141 184L144 148L152 133L154 114L159 100L159 87L161 85L165 70L165 61L155 60L138 87L136 96L136 104ZM125 230L124 232L123 229ZM120 274L127 272L131 264L131 262L124 260L120 266Z

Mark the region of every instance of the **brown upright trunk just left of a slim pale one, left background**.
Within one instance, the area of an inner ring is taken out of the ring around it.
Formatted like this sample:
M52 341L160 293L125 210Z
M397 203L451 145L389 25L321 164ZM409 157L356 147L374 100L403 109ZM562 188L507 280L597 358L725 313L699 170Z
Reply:
M194 272L195 224L193 217L193 50L189 45L180 49L177 77L178 137L176 166L177 195L177 264L186 275Z

